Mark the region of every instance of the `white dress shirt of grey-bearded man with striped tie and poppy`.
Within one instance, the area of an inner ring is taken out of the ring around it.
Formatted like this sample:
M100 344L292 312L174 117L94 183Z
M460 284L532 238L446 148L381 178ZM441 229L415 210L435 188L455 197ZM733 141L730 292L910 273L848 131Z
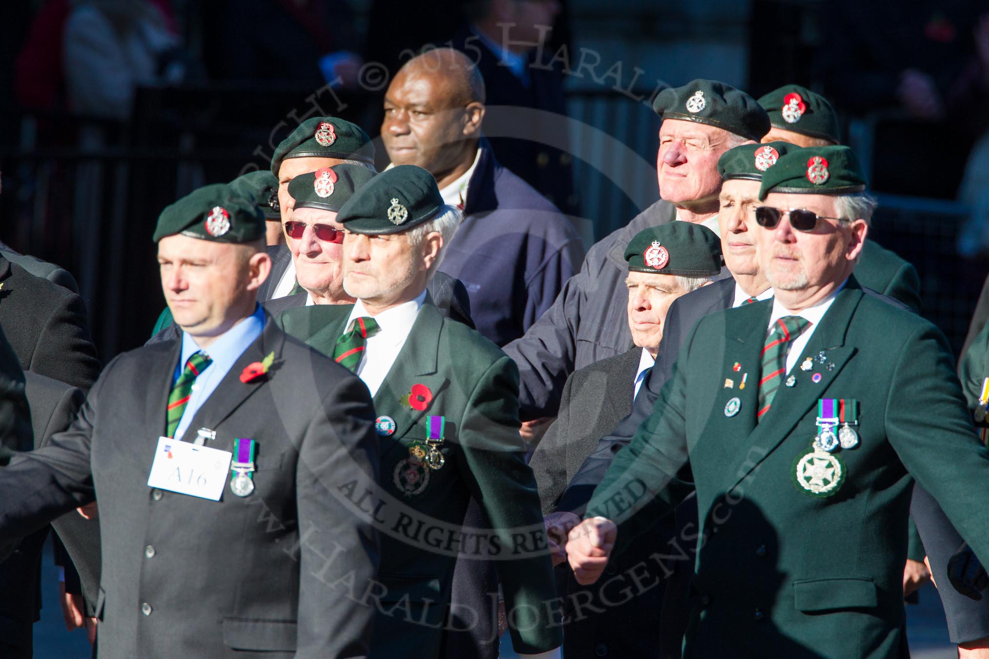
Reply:
M385 381L388 371L392 370L396 358L405 346L405 339L412 330L412 323L419 313L422 302L425 301L426 291L423 290L415 299L403 302L398 306L393 306L387 311L382 311L374 316L378 323L378 331L367 338L364 347L364 354L361 356L360 364L357 365L356 373L364 380L371 395L378 393L381 383ZM344 331L350 329L350 323L354 318L367 317L371 314L364 308L364 302L357 300L354 308L350 310L350 317Z

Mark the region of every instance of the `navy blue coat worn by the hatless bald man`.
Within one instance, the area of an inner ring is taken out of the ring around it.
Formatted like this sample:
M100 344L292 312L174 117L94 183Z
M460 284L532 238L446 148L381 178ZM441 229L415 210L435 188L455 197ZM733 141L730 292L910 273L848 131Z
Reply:
M439 270L464 283L478 331L503 346L553 305L584 247L556 206L498 164L485 140L480 148L464 222Z

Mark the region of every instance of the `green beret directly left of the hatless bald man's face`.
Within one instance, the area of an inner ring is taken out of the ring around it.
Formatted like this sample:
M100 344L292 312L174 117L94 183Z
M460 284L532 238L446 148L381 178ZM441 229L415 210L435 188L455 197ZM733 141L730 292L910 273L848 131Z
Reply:
M335 117L314 117L299 124L271 156L271 173L286 158L336 158L374 163L374 144L357 124Z

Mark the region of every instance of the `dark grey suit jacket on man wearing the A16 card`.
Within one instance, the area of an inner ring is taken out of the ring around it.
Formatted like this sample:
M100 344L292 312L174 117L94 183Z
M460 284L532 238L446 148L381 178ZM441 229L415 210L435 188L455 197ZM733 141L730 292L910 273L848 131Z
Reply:
M66 432L0 470L0 539L99 497L113 566L97 604L102 659L365 656L375 609L341 584L371 585L378 536L339 488L378 472L367 387L269 319L190 425L215 430L213 448L257 442L254 493L225 485L217 502L164 492L147 476L180 349L117 357ZM267 375L240 380L269 353Z

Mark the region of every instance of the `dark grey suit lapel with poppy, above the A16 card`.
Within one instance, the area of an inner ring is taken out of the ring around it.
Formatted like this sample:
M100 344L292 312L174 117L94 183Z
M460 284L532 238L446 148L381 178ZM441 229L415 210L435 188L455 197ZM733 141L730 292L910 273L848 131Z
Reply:
M183 435L183 441L195 441L196 431L200 428L216 430L226 417L232 414L255 391L264 386L267 380L277 382L279 377L292 377L294 375L281 371L279 368L282 348L285 345L285 334L278 329L267 313L265 313L265 321L261 336L237 358L237 361L224 375L224 379L220 381L217 388L196 412L196 416L189 424L189 429ZM260 362L268 353L275 355L275 362L268 375L251 382L241 382L240 373L244 368L254 362Z

